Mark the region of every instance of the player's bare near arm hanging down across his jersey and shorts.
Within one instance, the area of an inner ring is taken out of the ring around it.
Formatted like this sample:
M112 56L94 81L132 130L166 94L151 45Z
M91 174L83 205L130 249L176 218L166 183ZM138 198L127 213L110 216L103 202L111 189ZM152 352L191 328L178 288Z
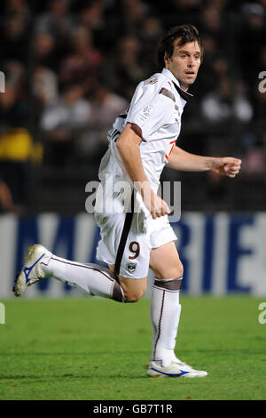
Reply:
M146 207L155 219L170 213L170 210L167 203L153 192L148 182L140 157L141 141L141 132L137 125L127 124L116 141L116 148L130 180L140 191Z

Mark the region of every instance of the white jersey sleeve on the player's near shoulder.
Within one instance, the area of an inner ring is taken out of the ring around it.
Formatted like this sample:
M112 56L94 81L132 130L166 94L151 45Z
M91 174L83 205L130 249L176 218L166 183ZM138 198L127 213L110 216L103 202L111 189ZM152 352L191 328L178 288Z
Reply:
M171 103L168 97L160 94L160 90L160 81L149 83L147 80L137 85L131 100L126 123L141 129L143 141L149 141L152 133L169 123Z

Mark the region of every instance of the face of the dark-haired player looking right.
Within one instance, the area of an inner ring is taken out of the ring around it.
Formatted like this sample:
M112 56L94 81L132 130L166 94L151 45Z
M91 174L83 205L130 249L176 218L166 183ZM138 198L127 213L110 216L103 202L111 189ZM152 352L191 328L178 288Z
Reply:
M174 52L171 57L165 57L165 67L176 76L181 88L187 90L197 78L201 62L201 51L198 42L188 42L178 45L179 39L174 44Z

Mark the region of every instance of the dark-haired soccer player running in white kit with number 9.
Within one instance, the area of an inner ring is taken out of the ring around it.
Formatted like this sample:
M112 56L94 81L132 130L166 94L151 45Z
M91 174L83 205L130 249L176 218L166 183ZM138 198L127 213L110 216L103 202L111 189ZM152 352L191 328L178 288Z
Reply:
M157 195L160 173L167 165L233 178L241 164L238 158L196 156L175 145L184 105L192 97L187 90L197 77L202 54L197 28L190 24L171 28L157 50L161 72L137 85L129 109L115 119L108 133L109 148L99 167L102 187L95 219L101 231L98 260L109 268L68 261L43 245L33 245L14 286L20 296L28 285L54 277L88 295L135 302L145 293L148 269L152 269L153 342L147 369L151 377L207 375L176 358L174 351L183 265L168 222L169 207ZM119 183L124 187L119 189Z

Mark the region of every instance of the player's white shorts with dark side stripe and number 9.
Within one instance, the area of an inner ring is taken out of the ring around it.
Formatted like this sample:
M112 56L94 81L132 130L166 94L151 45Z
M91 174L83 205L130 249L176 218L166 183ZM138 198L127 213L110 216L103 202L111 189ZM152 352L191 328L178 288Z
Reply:
M95 213L95 220L101 233L97 258L114 264L122 277L147 277L151 250L177 239L167 215L153 219L143 212Z

